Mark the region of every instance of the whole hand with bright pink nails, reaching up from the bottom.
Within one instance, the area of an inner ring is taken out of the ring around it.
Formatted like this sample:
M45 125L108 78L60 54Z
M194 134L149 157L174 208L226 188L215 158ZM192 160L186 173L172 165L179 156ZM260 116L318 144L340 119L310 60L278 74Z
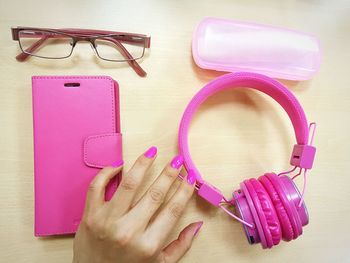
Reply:
M151 147L136 160L109 202L104 200L105 187L122 166L104 168L94 178L74 240L74 263L177 262L191 247L203 222L188 225L167 246L165 242L193 194L192 173L160 209L182 167L181 156L164 168L142 198L135 199L156 154L157 148Z

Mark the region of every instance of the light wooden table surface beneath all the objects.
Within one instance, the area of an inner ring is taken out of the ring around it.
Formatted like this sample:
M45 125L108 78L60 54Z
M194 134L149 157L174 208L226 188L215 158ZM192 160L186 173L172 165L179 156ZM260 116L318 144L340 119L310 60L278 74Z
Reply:
M5 1L0 2L0 262L70 262L71 237L33 236L32 75L110 75L120 84L124 159L157 145L149 182L176 154L177 128L191 97L222 73L198 68L191 37L206 16L272 24L312 33L323 48L320 72L310 81L283 81L308 119L318 148L309 173L310 224L298 240L272 250L248 245L239 223L193 198L173 237L204 220L183 262L350 262L350 2L344 1ZM146 33L152 46L138 77L126 63L106 63L79 43L66 60L17 62L11 26L80 27ZM297 43L296 43L297 45ZM289 168L292 126L273 101L250 90L226 91L196 115L190 144L202 174L229 196L248 177ZM301 181L298 180L301 185Z

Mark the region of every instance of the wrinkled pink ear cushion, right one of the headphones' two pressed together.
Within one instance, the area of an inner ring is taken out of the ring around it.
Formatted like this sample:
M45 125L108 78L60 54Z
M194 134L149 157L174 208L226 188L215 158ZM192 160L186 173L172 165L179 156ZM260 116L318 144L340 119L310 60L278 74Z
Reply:
M291 241L294 238L294 231L292 223L289 220L288 214L284 205L275 189L273 184L267 178L266 175L259 177L259 182L264 186L266 192L269 194L272 204L275 207L276 214L282 228L282 238L285 241Z

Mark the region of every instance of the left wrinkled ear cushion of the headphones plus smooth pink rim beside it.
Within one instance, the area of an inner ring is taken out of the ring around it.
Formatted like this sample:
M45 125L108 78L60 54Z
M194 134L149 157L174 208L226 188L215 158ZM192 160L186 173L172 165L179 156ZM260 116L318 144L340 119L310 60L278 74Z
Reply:
M281 226L268 193L255 178L245 180L244 183L252 196L268 247L278 245L282 238Z

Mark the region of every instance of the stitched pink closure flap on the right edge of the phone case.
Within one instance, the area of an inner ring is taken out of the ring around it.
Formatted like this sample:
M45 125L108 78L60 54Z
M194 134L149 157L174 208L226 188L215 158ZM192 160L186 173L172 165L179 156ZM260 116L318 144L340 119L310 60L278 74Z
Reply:
M84 163L90 167L103 168L121 162L122 134L108 133L89 136L84 141Z

